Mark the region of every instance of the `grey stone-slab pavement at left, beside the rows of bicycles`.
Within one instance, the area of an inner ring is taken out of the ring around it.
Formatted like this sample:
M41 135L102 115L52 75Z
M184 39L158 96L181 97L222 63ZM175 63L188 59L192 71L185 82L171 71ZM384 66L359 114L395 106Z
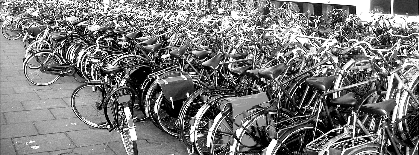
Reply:
M118 133L90 127L72 112L70 95L81 83L73 77L49 86L29 83L22 69L24 53L22 39L10 41L0 34L0 154L126 155ZM183 142L151 121L135 125L139 155L188 154Z

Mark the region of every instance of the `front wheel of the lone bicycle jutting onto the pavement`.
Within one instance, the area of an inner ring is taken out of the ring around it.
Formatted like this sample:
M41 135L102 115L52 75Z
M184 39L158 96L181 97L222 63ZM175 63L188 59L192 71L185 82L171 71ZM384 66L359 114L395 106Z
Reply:
M109 91L111 90L109 89ZM71 94L71 108L76 116L87 125L98 127L98 124L106 122L103 111L105 107L102 104L105 99L104 94L104 87L99 82L82 84Z

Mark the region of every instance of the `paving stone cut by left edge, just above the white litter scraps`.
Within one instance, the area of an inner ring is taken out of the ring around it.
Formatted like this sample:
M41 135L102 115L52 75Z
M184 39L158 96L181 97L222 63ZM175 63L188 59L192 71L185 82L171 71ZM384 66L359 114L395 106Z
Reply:
M0 137L2 138L38 135L38 131L36 131L36 128L32 122L0 125L0 128Z

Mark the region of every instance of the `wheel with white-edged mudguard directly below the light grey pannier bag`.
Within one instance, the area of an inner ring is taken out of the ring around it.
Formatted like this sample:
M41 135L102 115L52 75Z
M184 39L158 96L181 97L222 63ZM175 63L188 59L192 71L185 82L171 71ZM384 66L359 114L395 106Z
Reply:
M276 131L274 127L266 129L267 125L275 123L277 120L288 119L292 117L286 110L282 110L279 118L277 118L278 112L272 110L269 112L259 112L253 119L246 120L234 132L234 141L230 146L230 152L234 155L262 155L262 150L268 147L269 142L276 137ZM267 123L267 124L266 124ZM269 132L266 135L266 130Z

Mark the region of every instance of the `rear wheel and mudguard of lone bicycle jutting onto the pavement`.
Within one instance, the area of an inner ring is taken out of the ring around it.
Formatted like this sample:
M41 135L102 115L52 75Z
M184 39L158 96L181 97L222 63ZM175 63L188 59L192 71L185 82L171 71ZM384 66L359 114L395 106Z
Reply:
M134 91L129 87L123 86L115 89L106 98L109 101L105 106L114 108L111 113L114 116L115 123L117 123L116 132L119 132L122 138L127 155L138 155L137 150L137 133L135 132L134 121L132 119L132 97ZM109 99L109 100L108 100ZM104 112L109 115L108 109Z

